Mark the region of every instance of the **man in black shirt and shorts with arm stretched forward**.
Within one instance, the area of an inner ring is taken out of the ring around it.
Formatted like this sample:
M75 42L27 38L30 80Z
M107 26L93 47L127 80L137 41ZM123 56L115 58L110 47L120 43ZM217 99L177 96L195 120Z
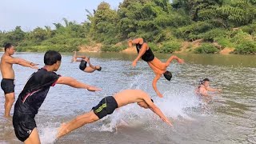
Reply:
M98 91L97 87L78 82L74 78L62 77L57 71L62 56L57 51L49 50L44 55L45 66L32 74L26 82L14 106L13 125L16 137L26 144L40 143L34 117L45 100L50 86L63 84L74 88Z

